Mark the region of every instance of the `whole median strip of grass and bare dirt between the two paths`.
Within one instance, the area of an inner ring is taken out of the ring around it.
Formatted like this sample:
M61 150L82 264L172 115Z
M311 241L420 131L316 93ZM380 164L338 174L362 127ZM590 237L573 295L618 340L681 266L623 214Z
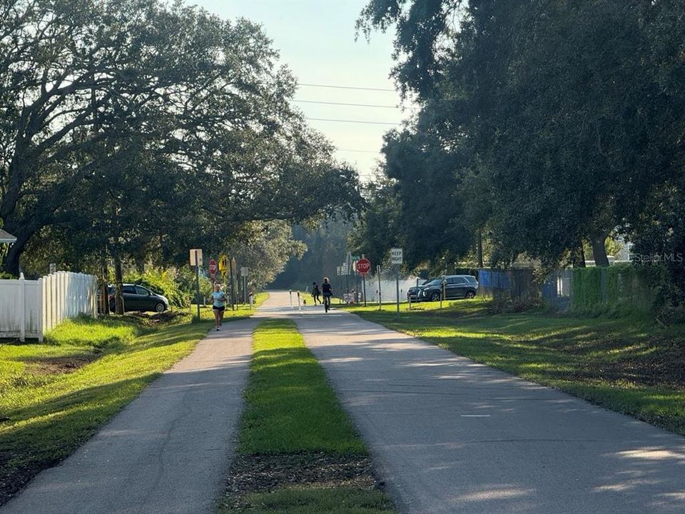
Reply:
M394 512L362 440L292 321L256 328L245 404L220 513Z

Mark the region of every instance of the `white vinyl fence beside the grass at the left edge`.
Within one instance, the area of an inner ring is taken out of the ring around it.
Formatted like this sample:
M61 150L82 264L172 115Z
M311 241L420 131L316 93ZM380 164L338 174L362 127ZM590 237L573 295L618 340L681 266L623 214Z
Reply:
M0 280L0 338L38 338L67 318L95 318L97 278L58 271L37 281Z

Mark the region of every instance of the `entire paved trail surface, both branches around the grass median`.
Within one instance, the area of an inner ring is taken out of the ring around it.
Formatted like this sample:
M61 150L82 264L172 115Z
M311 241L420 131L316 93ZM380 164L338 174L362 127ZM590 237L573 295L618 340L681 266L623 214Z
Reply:
M259 318L290 317L403 514L685 512L685 438L272 293L227 323L0 514L203 514L233 451Z

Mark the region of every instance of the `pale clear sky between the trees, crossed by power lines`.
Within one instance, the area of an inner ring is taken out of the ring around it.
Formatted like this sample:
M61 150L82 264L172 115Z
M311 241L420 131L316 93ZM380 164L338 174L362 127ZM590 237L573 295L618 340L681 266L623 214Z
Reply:
M390 107L339 106L295 102L309 119L372 121L388 124L310 120L340 149L336 156L369 178L381 158L385 131L410 111L400 106L400 96L388 78L392 68L392 34L375 32L370 42L355 41L355 21L365 0L189 0L222 18L243 17L261 24L280 51L281 63L298 77L295 99L312 102L371 104ZM374 88L341 89L305 86ZM387 91L390 90L390 91Z

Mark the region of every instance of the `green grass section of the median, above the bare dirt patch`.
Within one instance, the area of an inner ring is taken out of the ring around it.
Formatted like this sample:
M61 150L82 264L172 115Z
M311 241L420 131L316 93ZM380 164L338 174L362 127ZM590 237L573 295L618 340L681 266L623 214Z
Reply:
M366 454L295 323L260 323L253 346L238 452Z

